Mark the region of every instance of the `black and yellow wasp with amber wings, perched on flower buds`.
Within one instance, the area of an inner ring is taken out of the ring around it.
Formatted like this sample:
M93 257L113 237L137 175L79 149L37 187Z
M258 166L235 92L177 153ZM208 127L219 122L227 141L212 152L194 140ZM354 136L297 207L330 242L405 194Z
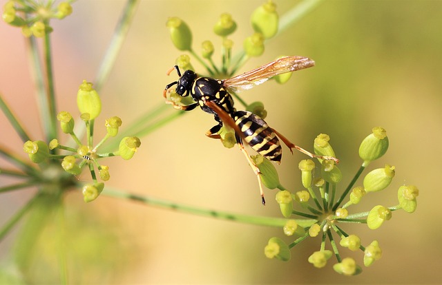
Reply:
M309 151L291 143L285 136L282 136L278 131L269 127L265 120L256 114L248 111L238 111L233 107L234 104L231 94L251 89L256 85L265 83L269 78L278 74L302 70L307 67L312 67L314 64L314 61L307 57L285 56L276 61L271 61L266 65L262 65L255 70L244 72L243 74L224 80L200 77L193 72L193 70L186 70L182 74L180 68L175 65L167 74L169 75L173 70L176 70L179 78L177 81L166 85L163 96L166 98L166 103L173 105L175 109L191 111L199 106L204 112L213 114L218 124L206 132L206 136L209 136L209 138L220 138L218 133L224 124L235 130L236 142L258 177L261 201L262 204L265 204L262 182L259 177L260 171L251 160L249 154L247 154L246 149L244 149L243 141L247 142L258 154L278 164L280 164L282 158L282 147L278 137L289 147L292 153L293 151L291 149L295 148L311 158L317 157L332 160L336 160L336 158L311 154ZM174 85L176 85L175 92L179 96L186 97L190 95L193 98L193 103L189 105L179 105L167 99L166 92Z

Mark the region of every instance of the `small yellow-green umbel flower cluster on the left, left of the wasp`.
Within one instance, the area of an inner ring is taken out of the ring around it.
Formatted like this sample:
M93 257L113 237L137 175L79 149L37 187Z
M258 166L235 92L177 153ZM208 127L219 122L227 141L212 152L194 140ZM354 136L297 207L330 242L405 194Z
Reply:
M129 160L133 157L137 148L140 147L140 139L132 137L124 137L119 142L117 151L110 153L100 153L101 147L108 138L117 136L118 129L122 125L122 120L113 116L105 120L106 135L100 140L97 145L93 145L93 127L95 118L102 110L102 101L93 84L83 81L79 86L77 93L77 106L80 112L80 118L86 125L86 145L84 145L79 137L74 132L75 120L73 116L66 111L59 112L57 120L64 134L70 135L75 142L75 147L68 147L61 145L57 138L52 139L47 145L42 140L31 141L28 140L23 145L23 150L28 154L30 160L39 164L48 164L48 160L61 160L61 167L64 171L74 176L81 174L84 167L88 167L93 179L93 184L85 184L82 190L84 201L91 202L95 200L104 189L104 182L98 182L95 173L95 167L98 169L99 178L102 181L107 181L111 178L109 174L109 167L102 165L99 162L101 158L110 156L121 156L124 160ZM67 151L70 154L55 154L57 150Z

